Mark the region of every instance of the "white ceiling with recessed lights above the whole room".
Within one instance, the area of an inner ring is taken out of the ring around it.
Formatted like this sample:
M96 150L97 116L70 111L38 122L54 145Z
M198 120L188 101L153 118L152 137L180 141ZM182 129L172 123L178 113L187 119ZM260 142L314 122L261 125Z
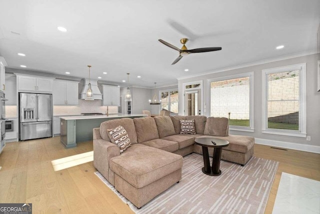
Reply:
M87 78L90 64L93 79L122 84L130 73L130 85L143 87L316 49L320 23L319 0L0 0L0 6L0 56L9 68L25 65ZM157 40L181 48L183 37L189 49L222 50L191 54L171 65L178 52ZM285 47L276 50L278 45Z

